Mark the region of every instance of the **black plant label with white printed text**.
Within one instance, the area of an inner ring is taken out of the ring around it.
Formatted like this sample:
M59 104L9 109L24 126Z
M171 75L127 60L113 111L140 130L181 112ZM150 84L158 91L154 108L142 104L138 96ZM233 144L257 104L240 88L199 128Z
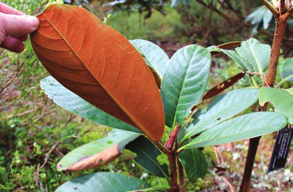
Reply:
M285 167L293 135L293 125L286 125L277 132L268 173Z

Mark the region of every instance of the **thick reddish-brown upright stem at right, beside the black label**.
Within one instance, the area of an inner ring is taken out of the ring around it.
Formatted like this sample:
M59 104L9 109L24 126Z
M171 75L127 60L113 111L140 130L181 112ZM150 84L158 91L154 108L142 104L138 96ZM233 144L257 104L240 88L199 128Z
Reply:
M285 13L284 15L278 15L277 17L275 17L276 24L275 24L275 32L273 37L271 58L270 58L270 63L268 67L266 83L264 84L264 86L273 87L274 79L277 72L278 60L280 57L281 45L283 42L283 36L286 30L286 25L287 25L289 16L290 16L289 13ZM266 111L267 104L265 104L265 106L261 109L263 111ZM255 160L255 155L256 155L259 139L260 137L255 137L250 139L243 178L242 178L242 182L241 182L241 186L239 190L240 192L250 191L251 174L253 171L254 160Z

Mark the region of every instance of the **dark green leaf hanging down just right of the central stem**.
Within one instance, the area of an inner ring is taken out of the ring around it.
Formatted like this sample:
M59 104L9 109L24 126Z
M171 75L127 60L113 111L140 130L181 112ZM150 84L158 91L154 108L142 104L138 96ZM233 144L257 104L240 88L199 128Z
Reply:
M197 149L186 149L178 154L185 173L191 182L196 182L197 178L204 178L208 171L208 163L202 152Z

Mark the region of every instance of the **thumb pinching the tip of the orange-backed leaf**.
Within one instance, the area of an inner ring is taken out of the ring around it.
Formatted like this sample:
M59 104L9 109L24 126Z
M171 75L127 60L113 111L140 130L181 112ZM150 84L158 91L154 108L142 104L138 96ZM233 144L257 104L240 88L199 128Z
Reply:
M0 27L6 36L19 37L34 32L39 19L34 16L19 16L0 13Z

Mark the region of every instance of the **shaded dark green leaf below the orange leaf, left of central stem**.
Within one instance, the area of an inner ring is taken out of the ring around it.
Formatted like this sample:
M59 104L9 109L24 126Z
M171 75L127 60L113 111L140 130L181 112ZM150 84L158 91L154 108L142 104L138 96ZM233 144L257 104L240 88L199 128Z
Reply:
M137 154L135 160L145 170L159 177L167 177L167 165L160 165L156 159L161 152L149 139L144 136L139 136L137 139L126 145L125 149Z

